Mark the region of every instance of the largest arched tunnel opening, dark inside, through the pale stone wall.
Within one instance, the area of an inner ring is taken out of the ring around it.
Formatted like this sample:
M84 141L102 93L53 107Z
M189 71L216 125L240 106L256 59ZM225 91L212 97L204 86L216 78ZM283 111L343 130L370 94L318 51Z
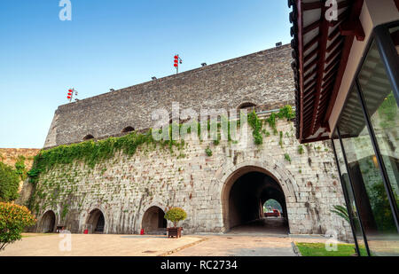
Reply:
M263 205L270 199L282 207L279 218L264 215ZM289 232L286 195L278 180L263 168L239 168L227 178L222 200L226 231Z

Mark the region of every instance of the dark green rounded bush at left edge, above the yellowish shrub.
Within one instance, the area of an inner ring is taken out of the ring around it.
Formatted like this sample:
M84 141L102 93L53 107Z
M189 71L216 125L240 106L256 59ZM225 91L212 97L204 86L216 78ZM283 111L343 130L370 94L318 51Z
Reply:
M20 175L12 167L0 161L0 201L18 198Z

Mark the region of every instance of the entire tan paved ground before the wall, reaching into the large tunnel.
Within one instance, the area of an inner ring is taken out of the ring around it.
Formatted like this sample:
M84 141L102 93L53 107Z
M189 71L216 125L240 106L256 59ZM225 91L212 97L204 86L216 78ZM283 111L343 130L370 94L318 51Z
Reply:
M163 235L72 234L72 250L62 252L59 234L26 233L0 256L295 256L293 242L325 242L320 235L288 234L282 218L233 228L226 234Z

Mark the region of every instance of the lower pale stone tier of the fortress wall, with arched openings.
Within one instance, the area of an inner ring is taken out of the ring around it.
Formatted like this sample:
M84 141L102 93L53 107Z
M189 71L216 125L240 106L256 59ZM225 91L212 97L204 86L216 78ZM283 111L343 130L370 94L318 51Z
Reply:
M305 145L299 153L292 121L278 121L278 131L284 132L282 147L273 134L262 145L254 145L251 131L244 147L191 140L181 151L170 153L168 147L144 145L131 158L116 153L92 169L81 162L53 168L37 186L42 195L37 203L39 225L42 216L53 211L56 223L82 233L90 213L99 209L105 233L139 233L150 207L165 212L182 207L188 215L180 223L184 233L229 231L225 192L231 177L255 170L274 178L283 189L291 233L332 230L340 239L350 239L348 223L330 212L332 205L344 204L330 143ZM205 153L207 147L212 156Z

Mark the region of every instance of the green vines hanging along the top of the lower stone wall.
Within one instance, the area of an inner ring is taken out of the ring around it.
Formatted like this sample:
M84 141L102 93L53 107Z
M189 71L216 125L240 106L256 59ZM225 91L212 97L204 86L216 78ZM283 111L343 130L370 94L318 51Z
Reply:
M272 128L276 129L276 118L287 118L292 119L294 116L291 106L284 106L280 109L278 114L271 114L268 122L272 125ZM222 117L222 122L227 122L228 129L231 129L231 122L226 117ZM263 141L262 134L269 136L269 132L262 129L262 121L259 119L257 114L254 112L248 114L247 121L253 129L253 137L254 144L261 145ZM240 121L237 121L237 127L240 126ZM72 145L59 145L57 147L51 148L49 150L43 150L38 153L34 158L34 164L31 170L27 172L27 176L29 176L29 182L33 184L34 190L33 194L28 201L28 207L33 210L35 208L36 212L39 211L39 206L36 204L36 197L43 199L43 193L41 190L36 189L36 184L39 180L39 176L41 173L46 173L51 168L55 168L56 166L62 165L70 165L74 162L83 162L90 168L94 168L98 163L112 159L115 153L121 152L129 157L137 152L137 148L140 145L148 145L155 148L157 145L161 147L168 147L170 152L173 152L173 147L177 147L179 150L184 147L184 139L182 138L180 142L172 140L172 131L179 130L182 132L182 127L187 125L173 123L169 125L169 140L160 140L156 141L153 138L152 129L148 132L141 134L132 132L129 135L125 135L123 137L109 137L104 140L98 140L96 142L90 140L78 144ZM192 123L193 129L195 126L198 128L198 135L200 136L201 126L200 123ZM205 128L210 129L211 122L207 121L207 124L204 125ZM217 129L221 128L221 123L217 123ZM187 129L187 133L190 134L192 127ZM230 130L228 130L228 140L231 141ZM200 138L201 139L201 138ZM219 144L220 133L217 135L217 140L214 142L214 145ZM207 156L210 156L211 150L210 148L206 152ZM180 153L178 157L184 157L184 153ZM105 172L105 169L102 169ZM90 173L90 170L88 171ZM60 191L59 191L60 192ZM57 192L57 193L59 193ZM52 194L49 197L50 200L55 200L55 197L58 194ZM41 198L42 197L42 198ZM65 208L67 210L67 207Z

